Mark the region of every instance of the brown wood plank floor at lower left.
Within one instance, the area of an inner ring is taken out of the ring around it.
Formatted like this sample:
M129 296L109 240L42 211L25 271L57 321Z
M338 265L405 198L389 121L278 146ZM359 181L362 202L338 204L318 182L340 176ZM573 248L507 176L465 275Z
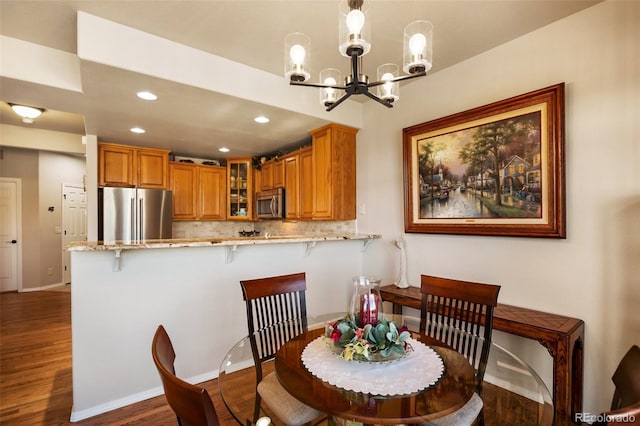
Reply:
M71 297L69 292L0 294L0 424L176 425L164 396L70 423ZM202 384L221 424L237 425L217 380Z

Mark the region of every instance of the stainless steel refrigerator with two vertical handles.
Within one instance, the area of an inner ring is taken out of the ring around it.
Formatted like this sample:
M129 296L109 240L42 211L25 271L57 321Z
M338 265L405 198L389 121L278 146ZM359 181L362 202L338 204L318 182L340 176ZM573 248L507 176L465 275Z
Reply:
M105 243L171 238L171 191L98 189L98 239Z

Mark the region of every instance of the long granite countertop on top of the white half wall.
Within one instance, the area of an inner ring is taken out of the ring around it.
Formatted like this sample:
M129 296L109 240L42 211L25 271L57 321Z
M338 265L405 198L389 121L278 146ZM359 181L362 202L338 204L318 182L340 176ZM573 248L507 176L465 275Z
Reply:
M145 240L124 243L116 241L79 241L67 244L69 251L121 251L141 249L162 249L179 247L237 247L262 244L283 243L317 243L321 241L373 240L382 238L380 234L332 234L332 235L267 235L255 237L223 237L223 238L180 238L168 240Z

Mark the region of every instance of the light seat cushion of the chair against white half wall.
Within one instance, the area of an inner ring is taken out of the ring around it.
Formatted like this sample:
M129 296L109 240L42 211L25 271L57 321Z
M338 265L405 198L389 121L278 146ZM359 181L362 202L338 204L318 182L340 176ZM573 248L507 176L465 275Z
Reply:
M303 404L287 392L275 373L268 374L260 381L258 393L269 409L288 426L303 425L322 415L322 412Z

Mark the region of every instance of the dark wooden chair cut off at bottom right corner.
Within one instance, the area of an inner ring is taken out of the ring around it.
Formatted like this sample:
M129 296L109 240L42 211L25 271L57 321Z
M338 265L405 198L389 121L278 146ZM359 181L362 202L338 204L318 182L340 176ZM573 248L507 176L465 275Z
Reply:
M631 346L611 381L615 385L611 409L601 413L593 424L640 424L640 347ZM635 418L637 423L630 423L630 418Z

